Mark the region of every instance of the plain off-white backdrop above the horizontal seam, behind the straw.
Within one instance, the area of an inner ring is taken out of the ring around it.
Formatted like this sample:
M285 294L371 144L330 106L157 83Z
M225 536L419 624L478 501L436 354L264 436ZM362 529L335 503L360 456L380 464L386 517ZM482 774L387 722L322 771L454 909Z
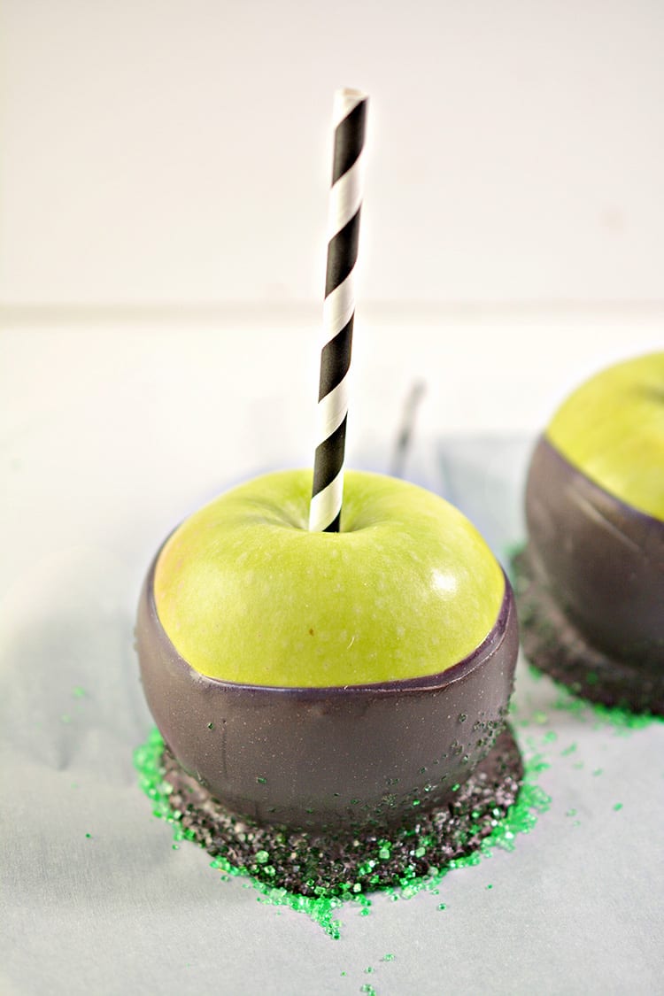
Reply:
M11 303L318 301L370 95L363 301L664 298L658 0L5 0Z

